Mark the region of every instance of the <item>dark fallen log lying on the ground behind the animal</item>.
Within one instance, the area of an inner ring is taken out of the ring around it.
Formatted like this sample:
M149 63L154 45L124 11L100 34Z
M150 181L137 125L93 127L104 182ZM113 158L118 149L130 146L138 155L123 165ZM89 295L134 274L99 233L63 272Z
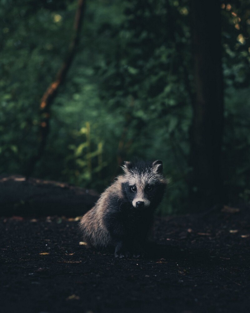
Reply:
M98 193L67 183L0 175L0 216L83 215Z

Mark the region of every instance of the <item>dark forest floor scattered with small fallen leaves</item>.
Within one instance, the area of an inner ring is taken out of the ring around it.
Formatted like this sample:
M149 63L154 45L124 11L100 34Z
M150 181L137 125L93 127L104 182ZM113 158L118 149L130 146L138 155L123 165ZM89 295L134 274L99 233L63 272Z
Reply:
M87 249L78 218L1 218L1 312L249 312L250 210L222 211L157 218L145 259Z

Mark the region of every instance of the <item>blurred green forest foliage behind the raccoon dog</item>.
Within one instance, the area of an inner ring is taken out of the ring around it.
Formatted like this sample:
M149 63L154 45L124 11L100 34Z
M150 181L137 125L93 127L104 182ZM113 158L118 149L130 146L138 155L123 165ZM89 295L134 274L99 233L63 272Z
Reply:
M204 101L211 113L204 136L212 131L218 146L201 147L210 159L216 150L219 161L207 167L212 177L200 171L206 182L199 179L224 204L249 203L249 3L197 3L86 2L72 63L45 110L41 99L65 61L79 1L0 0L0 173L101 192L123 161L161 159L170 183L159 213L192 211L190 193L199 199L193 173L207 162L194 153L200 24L207 69L221 67L222 75L215 82L208 75Z

